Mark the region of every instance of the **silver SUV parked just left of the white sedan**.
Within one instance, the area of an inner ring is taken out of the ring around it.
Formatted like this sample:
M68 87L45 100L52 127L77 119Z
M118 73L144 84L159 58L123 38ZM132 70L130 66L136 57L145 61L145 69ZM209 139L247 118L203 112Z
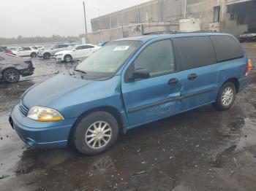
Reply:
M44 58L44 59L50 59L51 56L54 56L56 52L60 52L62 50L70 50L72 48L72 45L70 44L56 44L53 45L53 47L50 47L50 49L42 49L39 50L38 57Z

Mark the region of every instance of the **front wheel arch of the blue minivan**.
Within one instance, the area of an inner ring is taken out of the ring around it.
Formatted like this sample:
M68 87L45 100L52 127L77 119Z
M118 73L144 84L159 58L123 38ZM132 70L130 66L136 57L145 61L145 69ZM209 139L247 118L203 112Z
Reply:
M124 118L122 117L121 113L118 112L118 109L116 109L113 106L100 106L94 109L89 109L88 111L84 112L83 114L80 114L78 117L78 120L75 121L75 124L72 126L72 129L69 132L69 143L72 141L72 135L74 133L75 127L80 122L83 117L86 117L87 115L93 113L93 112L108 112L115 117L116 121L118 122L118 132L121 134L127 133L127 128L124 122Z

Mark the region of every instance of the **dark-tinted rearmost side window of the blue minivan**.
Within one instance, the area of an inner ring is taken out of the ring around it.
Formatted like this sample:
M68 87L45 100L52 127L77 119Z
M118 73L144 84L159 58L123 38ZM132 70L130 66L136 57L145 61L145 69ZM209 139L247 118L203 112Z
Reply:
M211 41L214 44L218 62L230 61L244 57L244 50L232 36L211 36Z

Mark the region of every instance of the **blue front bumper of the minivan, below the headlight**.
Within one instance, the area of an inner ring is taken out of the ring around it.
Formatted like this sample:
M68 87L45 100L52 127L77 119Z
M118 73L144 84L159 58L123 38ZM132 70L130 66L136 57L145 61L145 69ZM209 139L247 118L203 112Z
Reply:
M76 119L58 122L38 122L23 116L19 104L10 114L10 124L20 139L39 149L67 147L70 130Z

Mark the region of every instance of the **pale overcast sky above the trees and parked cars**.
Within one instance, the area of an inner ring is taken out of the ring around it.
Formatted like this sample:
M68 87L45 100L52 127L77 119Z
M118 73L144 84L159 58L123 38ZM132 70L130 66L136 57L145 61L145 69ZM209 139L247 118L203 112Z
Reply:
M148 0L85 0L91 18ZM78 36L85 31L83 0L0 0L0 37Z

